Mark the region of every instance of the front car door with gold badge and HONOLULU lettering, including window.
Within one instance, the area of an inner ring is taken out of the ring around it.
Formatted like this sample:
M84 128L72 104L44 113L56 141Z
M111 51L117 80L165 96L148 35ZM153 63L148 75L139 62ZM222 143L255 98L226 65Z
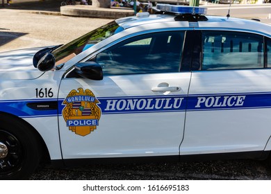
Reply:
M179 155L189 72L180 72L183 31L137 35L90 60L103 80L63 78L64 159Z

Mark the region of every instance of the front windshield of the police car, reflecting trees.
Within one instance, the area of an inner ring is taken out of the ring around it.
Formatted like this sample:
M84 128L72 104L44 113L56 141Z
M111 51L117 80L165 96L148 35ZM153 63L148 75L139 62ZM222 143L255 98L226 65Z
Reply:
M56 65L67 62L94 44L97 44L111 35L122 31L122 29L123 28L115 21L111 21L110 23L92 30L90 33L87 33L78 39L74 39L72 42L63 45L60 48L57 48L51 52L56 58Z

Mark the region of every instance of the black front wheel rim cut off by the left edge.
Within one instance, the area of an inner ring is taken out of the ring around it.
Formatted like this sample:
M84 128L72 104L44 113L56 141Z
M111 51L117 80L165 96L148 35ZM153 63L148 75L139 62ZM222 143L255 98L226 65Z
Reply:
M1 175L12 175L22 168L23 150L19 140L10 132L0 130Z

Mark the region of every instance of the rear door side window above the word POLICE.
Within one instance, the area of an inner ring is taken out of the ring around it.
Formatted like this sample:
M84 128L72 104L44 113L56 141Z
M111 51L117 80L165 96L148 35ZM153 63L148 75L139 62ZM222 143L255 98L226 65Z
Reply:
M264 66L263 36L229 31L202 32L202 70Z

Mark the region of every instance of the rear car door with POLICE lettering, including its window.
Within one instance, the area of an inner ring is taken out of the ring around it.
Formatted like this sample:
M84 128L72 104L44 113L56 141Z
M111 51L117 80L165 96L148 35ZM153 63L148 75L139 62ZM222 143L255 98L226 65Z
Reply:
M271 135L271 71L265 58L270 46L265 39L253 33L202 31L202 61L192 71L181 155L261 155Z

